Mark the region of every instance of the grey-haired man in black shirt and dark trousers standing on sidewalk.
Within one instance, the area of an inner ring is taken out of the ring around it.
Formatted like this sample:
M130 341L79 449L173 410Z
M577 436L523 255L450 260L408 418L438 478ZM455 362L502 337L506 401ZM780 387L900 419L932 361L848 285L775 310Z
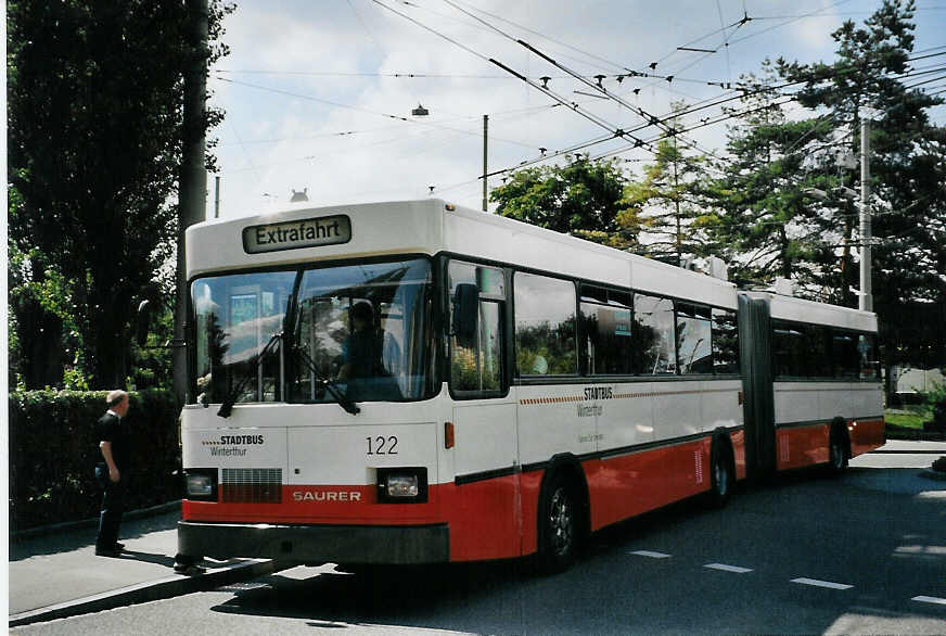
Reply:
M128 394L111 391L105 397L108 410L95 423L95 436L104 463L95 466L95 476L104 489L102 513L99 517L99 536L95 554L100 557L118 557L124 545L118 543L118 526L125 511L125 485L131 465L131 440L127 424Z

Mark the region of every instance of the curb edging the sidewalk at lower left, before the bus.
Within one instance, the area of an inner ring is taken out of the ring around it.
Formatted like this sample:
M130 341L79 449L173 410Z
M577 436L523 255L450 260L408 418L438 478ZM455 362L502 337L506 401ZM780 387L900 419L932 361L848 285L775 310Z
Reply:
M177 574L165 578L158 578L156 581L120 587L112 592L87 596L85 598L54 606L30 610L20 614L13 614L10 616L8 626L18 627L31 623L52 621L54 619L66 619L79 614L101 612L130 605L163 600L175 596L192 594L194 592L208 592L216 587L220 587L221 585L229 585L246 578L256 578L266 574L272 574L280 569L281 568L274 565L273 561L269 559L242 560L239 563L227 565L226 568L201 574L199 576Z

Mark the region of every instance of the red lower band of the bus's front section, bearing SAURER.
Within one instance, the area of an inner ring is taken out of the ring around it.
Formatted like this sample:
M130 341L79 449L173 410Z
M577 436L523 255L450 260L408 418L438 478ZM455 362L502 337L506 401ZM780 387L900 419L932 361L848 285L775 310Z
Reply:
M731 434L737 475L745 474L744 434ZM710 488L711 436L583 463L591 529L641 514ZM282 501L183 501L183 519L230 523L425 525L447 523L450 560L535 552L544 471L463 485L432 484L424 504L379 504L374 485L284 485ZM343 495L344 494L344 495Z

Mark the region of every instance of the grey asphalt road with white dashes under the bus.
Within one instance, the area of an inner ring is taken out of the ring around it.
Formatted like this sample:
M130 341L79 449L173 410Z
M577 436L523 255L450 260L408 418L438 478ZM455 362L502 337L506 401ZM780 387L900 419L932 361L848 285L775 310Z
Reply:
M294 568L12 632L946 634L946 482L871 467L885 461L742 486L725 510L673 506L598 533L558 576L523 562Z

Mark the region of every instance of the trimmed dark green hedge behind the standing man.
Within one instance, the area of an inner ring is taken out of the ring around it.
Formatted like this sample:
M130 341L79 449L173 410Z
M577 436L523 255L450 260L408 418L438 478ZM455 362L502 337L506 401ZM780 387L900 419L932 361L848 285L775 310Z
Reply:
M11 393L10 530L99 516L102 492L94 467L102 461L95 421L105 412L105 391ZM170 391L130 394L132 469L128 510L181 497L179 411ZM123 475L125 479L125 475Z

